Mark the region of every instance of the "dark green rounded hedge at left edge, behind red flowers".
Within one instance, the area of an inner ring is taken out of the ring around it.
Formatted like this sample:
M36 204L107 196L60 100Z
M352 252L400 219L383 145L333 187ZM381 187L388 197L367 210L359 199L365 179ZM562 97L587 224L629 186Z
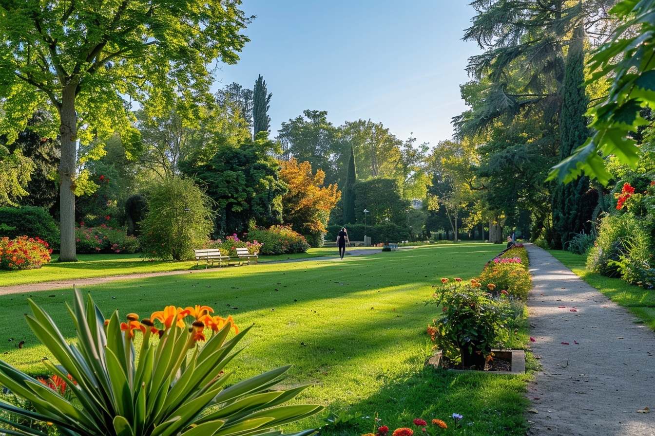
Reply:
M0 223L5 224L0 228L0 237L38 237L46 241L50 248L59 249L59 228L43 207L0 207ZM12 228L8 229L7 226Z

